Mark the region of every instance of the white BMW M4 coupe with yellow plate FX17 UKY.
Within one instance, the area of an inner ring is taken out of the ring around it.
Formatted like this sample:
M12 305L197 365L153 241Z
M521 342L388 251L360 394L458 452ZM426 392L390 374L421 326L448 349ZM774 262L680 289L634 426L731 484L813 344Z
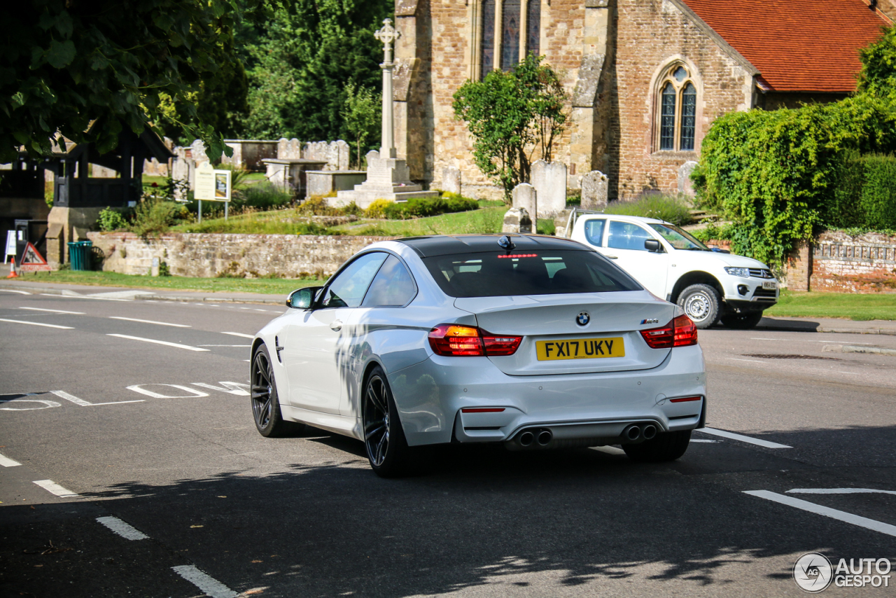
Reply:
M451 442L671 461L706 420L694 323L572 240L375 243L287 305L252 345L255 425L358 438L382 476Z

